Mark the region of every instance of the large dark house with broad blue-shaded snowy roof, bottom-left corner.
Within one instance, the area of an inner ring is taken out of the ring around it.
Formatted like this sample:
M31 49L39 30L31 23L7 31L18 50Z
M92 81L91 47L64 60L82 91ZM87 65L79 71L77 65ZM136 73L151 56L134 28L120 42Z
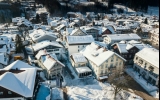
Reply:
M35 99L36 86L39 82L39 68L25 62L15 61L0 70L0 99L28 100Z

